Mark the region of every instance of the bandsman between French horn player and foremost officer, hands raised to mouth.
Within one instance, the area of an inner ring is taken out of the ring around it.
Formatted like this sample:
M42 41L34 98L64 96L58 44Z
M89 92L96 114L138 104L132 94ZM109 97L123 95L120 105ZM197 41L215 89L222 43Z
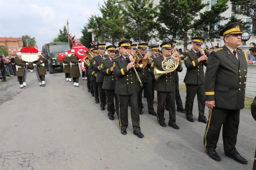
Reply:
M195 122L193 118L194 98L197 94L198 101L198 121L206 123L204 116L205 89L204 89L204 66L207 66L206 56L199 48L202 46L204 38L192 38L192 49L184 54L184 64L187 68L184 82L186 83L185 115L190 122Z

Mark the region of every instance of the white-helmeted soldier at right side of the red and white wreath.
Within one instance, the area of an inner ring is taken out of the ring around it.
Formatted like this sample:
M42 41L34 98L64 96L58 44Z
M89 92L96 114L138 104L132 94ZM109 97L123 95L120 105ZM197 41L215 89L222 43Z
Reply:
M42 57L42 53L38 52L38 59L34 62L33 66L36 66L36 70L38 72L39 78L42 82L39 82L39 86L45 86L45 75L46 75L46 68L44 66L45 59Z

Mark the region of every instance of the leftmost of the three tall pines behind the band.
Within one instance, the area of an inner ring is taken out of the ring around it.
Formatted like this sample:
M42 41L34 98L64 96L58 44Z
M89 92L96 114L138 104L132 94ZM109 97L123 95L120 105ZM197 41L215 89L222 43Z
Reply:
M118 0L104 0L104 5L98 4L101 16L94 16L95 23L92 28L96 37L115 44L122 38L125 30L122 28L122 10L123 7L118 3Z

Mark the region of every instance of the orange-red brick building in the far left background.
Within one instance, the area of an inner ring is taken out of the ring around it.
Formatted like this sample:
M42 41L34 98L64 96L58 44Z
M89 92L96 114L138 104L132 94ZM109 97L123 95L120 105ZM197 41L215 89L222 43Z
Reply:
M14 52L14 54L16 54L23 47L23 40L21 37L0 37L0 46L5 46L5 50L9 54L12 54L12 51Z

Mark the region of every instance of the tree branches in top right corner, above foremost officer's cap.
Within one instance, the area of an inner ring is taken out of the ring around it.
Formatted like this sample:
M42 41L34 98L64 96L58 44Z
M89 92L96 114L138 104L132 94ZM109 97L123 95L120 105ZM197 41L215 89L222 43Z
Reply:
M249 29L252 24L252 33L256 34L256 0L230 0L232 3L232 12L238 15L251 17L248 22L244 23Z

